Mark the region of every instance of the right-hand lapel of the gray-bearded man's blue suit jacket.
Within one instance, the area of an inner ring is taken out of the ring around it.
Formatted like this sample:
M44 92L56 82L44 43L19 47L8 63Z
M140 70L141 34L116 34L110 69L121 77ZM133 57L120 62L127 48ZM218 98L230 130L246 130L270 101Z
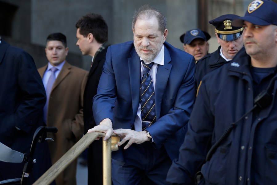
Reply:
M157 120L160 117L163 94L167 86L167 81L171 71L172 65L169 64L171 57L166 47L164 47L164 64L158 65L156 84L155 84L155 104Z

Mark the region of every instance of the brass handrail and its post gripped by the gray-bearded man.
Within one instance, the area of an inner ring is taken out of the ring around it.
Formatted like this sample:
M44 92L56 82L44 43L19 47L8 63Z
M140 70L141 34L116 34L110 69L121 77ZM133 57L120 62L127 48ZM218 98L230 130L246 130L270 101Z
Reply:
M49 185L65 170L82 152L90 146L98 137L104 137L105 133L92 132L85 134L70 150L68 150L52 167L50 167L33 185ZM103 185L111 185L111 151L118 150L120 141L115 134L103 141Z

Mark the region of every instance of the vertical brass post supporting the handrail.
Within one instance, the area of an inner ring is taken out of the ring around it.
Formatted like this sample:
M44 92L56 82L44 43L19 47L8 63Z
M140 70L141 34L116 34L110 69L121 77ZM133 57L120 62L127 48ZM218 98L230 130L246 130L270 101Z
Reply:
M111 137L103 139L103 185L111 185Z

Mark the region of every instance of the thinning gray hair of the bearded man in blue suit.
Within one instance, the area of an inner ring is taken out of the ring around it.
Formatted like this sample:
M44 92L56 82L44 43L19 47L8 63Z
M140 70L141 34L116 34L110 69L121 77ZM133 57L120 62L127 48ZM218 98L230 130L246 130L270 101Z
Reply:
M159 10L149 5L141 6L139 10L134 13L132 28L134 29L134 25L138 19L146 20L152 19L153 17L158 20L159 30L163 33L167 27L167 18Z

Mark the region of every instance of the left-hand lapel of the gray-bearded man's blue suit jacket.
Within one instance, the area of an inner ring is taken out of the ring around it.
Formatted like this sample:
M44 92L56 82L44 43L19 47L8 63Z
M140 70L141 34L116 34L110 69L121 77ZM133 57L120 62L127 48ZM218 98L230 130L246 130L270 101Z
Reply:
M140 80L141 69L139 55L136 54L135 49L131 51L131 58L128 58L130 88L133 107L133 116L135 117L138 111L139 98L140 98Z

